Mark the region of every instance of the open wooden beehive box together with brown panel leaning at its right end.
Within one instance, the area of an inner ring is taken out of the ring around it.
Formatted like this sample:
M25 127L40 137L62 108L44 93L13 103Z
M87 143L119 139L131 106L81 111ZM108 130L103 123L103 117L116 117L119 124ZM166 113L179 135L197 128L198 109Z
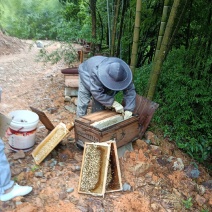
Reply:
M101 111L83 116L75 120L75 139L81 143L115 139L117 147L121 147L142 138L158 106L157 103L136 95L136 107L133 111L135 116L102 129L97 129L95 123L113 118L118 114L112 111Z

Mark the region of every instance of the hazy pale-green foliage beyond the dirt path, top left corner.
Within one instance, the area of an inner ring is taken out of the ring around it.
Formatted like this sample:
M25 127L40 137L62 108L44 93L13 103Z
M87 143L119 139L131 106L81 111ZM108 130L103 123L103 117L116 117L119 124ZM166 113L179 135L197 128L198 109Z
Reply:
M52 39L60 22L60 9L57 0L10 0L5 5L2 25L7 33L19 38Z

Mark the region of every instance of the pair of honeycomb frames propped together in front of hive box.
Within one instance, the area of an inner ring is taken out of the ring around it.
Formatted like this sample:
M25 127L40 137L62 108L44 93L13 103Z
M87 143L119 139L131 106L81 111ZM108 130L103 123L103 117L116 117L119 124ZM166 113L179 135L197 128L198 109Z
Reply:
M98 174L94 171L96 170L94 163L98 156L94 152L88 151L88 148L94 147L101 152ZM89 156L88 154L94 154L94 157L91 158L91 155ZM92 189L85 189L90 187L90 184L92 184ZM106 192L121 190L121 172L115 141L85 143L78 192L104 197Z

